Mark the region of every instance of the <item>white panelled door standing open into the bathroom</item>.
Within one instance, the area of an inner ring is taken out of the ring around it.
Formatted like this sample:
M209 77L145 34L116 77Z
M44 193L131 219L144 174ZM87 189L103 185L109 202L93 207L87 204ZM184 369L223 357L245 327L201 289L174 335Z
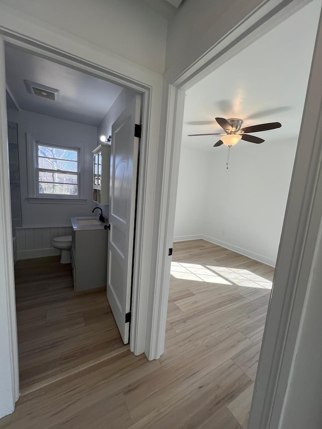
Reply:
M136 96L112 125L107 299L124 344L129 342L134 216L140 124Z

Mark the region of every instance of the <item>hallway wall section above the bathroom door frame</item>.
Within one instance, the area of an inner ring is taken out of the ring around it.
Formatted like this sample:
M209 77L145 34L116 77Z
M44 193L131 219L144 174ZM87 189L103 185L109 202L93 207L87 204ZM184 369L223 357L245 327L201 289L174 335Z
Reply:
M168 21L139 2L2 0L1 3L157 73L164 71Z

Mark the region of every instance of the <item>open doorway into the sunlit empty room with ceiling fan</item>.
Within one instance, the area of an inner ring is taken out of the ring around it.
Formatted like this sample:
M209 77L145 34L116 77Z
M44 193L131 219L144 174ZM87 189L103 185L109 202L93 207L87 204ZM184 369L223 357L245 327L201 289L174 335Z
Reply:
M237 392L227 382L225 392L231 394L227 409L232 422L245 428L319 11L320 2L310 3L186 92L165 354L160 360L165 365L179 357L198 360L212 350L219 371L221 359L227 362L229 356L249 382ZM298 26L307 29L302 46L296 42ZM301 64L287 58L287 42L280 43L284 34L307 53ZM257 67L250 65L250 58L256 58ZM276 63L278 74L273 72ZM282 127L254 133L265 140L261 144L240 140L231 147L227 165L228 148L219 140L224 131L215 117L243 118L243 127L276 121ZM230 351L229 337L235 338ZM243 341L247 344L241 346Z

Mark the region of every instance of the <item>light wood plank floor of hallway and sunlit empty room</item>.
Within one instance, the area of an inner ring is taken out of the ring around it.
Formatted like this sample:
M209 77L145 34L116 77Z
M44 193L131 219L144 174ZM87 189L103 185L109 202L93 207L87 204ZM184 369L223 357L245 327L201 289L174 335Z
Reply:
M124 351L24 395L0 428L246 428L272 276L206 241L176 243L162 358Z

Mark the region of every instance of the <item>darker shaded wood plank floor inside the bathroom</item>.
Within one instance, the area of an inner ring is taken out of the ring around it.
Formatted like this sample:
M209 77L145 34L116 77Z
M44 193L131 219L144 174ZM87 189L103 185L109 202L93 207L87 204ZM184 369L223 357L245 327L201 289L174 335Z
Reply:
M18 261L15 278L21 394L128 349L106 292L75 294L59 256Z

